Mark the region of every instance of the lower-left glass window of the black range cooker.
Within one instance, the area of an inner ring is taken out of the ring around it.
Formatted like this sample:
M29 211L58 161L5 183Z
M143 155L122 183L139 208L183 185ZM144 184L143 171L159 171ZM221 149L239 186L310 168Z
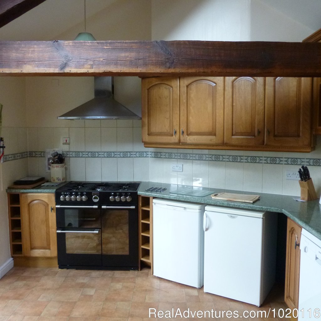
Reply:
M65 233L66 253L101 254L101 233L79 232Z

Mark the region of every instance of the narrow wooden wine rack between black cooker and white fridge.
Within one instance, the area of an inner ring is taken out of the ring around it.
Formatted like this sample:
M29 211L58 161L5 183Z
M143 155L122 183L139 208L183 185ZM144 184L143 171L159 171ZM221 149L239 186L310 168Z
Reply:
M153 197L138 196L139 212L139 269L141 262L153 273Z

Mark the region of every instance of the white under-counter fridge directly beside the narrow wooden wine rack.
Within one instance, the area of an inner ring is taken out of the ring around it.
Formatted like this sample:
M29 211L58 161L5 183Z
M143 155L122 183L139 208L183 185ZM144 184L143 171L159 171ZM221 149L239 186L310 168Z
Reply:
M153 270L196 288L204 282L204 204L153 200Z

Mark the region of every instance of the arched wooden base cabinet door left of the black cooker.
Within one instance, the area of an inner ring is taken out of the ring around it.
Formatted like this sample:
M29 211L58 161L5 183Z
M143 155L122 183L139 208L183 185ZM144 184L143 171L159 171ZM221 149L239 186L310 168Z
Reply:
M57 256L54 193L21 194L24 256Z

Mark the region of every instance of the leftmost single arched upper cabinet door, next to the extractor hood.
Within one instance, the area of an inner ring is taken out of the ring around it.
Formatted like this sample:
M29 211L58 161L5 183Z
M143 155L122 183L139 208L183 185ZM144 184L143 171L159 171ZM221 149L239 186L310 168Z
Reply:
M142 79L143 143L179 143L179 78Z

